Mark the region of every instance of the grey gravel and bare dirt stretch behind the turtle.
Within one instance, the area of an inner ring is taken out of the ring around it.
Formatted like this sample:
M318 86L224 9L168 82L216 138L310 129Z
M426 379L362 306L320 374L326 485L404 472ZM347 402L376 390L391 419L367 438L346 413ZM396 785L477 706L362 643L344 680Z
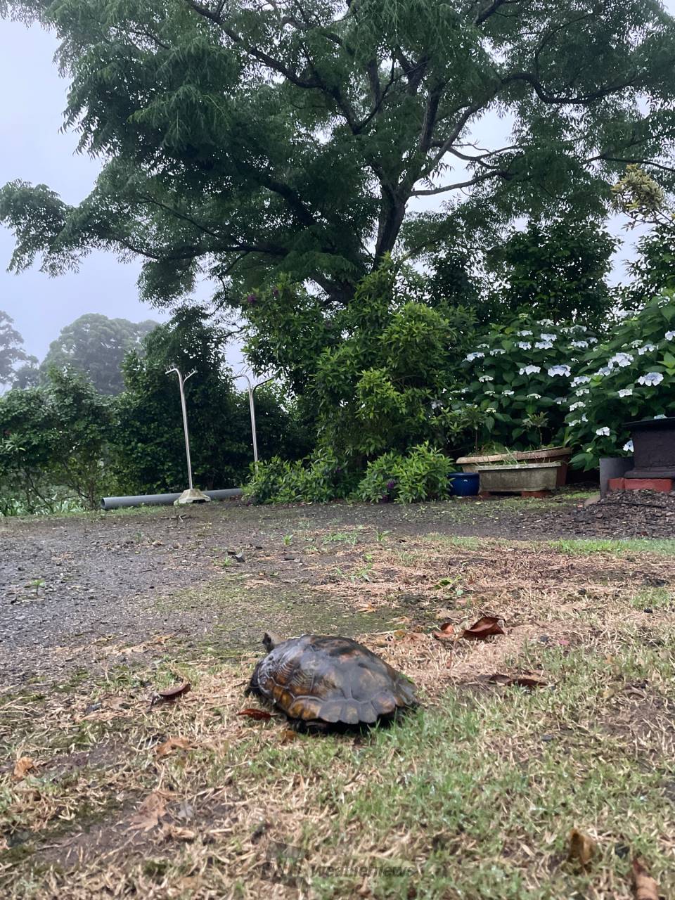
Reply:
M317 630L316 588L345 554L357 555L378 535L405 542L429 534L525 540L675 534L671 495L615 495L590 507L583 500L576 493L275 508L230 501L180 512L5 519L0 683L21 684L36 672L41 679L63 677L101 662L107 644L128 639L140 644L170 633L188 643L241 648L270 626ZM401 605L390 613L400 614ZM323 600L322 615L343 617L347 633L363 630L334 597Z

